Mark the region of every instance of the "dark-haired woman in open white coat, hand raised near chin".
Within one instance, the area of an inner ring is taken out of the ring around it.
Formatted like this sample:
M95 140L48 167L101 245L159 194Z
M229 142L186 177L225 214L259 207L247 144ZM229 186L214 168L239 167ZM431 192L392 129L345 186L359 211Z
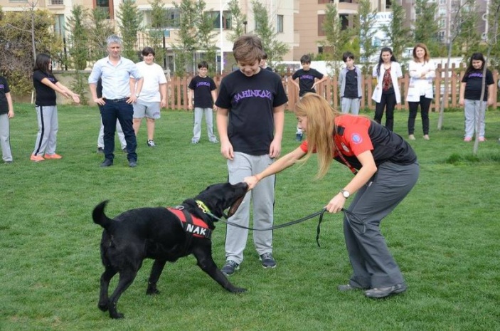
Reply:
M398 79L403 77L401 65L396 61L393 50L384 47L378 59L378 65L373 67L373 78L377 78L377 85L373 90L372 99L376 102L375 120L380 123L385 108L385 127L393 131L394 108L401 103L401 93Z

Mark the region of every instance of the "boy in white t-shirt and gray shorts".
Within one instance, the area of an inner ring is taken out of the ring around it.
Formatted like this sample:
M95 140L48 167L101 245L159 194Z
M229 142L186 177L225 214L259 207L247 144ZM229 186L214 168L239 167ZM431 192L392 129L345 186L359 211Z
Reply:
M142 119L146 117L147 145L154 147L154 120L160 118L160 109L166 106L166 78L163 68L154 63L153 48L144 47L142 58L144 61L137 63L137 68L144 77L144 84L134 103L134 131L137 136Z

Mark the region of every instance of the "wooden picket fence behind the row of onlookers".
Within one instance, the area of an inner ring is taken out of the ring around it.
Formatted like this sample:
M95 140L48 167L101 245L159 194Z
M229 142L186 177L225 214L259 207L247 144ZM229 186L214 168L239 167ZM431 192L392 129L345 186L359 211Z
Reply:
M448 84L445 85L445 75L448 75ZM445 103L445 109L450 107L460 107L459 106L459 90L460 81L464 76L464 68L455 68L454 65L449 69L447 67L442 68L441 65L437 66L436 78L434 80L434 99L430 106L432 112L439 111L441 103ZM497 83L499 80L499 72L494 71L493 77L495 80L494 94L497 95ZM175 110L186 110L188 111L188 85L192 77L173 77L168 85L168 105L167 108ZM220 85L220 80L223 76L216 76L213 80L216 85ZM282 83L285 92L288 96L288 104L286 109L293 110L295 103L299 100L299 90L297 86L292 83L291 75L284 75L282 77ZM402 103L396 106L396 110L408 109L408 103L405 102L405 96L408 91L408 85L410 83L410 78L408 73L406 73L400 80L400 91ZM376 82L371 77L371 75L364 75L361 79L361 87L363 88L363 97L361 98L361 109L375 110L375 102L371 100L371 95L373 94L373 88L375 88ZM339 84L336 76L327 78L319 87L317 88L317 93L323 95L326 100L331 102L334 107L340 106L339 98ZM443 98L444 95L444 98ZM494 107L500 107L499 100L496 100Z

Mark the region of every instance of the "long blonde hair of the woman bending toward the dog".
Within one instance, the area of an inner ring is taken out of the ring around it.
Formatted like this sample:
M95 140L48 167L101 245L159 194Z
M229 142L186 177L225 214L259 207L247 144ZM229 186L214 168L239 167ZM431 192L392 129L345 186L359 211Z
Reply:
M318 154L317 178L328 172L336 149L334 143L335 118L340 112L335 110L325 98L316 93L306 93L295 105L297 117L307 117L307 154L300 162L306 162L313 152Z

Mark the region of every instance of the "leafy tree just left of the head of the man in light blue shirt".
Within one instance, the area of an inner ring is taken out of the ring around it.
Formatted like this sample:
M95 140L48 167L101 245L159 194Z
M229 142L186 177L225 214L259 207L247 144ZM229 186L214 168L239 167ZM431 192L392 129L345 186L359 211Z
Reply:
M90 60L97 61L107 56L106 39L115 33L115 29L107 20L107 14L102 9L92 10L91 28L89 31Z

